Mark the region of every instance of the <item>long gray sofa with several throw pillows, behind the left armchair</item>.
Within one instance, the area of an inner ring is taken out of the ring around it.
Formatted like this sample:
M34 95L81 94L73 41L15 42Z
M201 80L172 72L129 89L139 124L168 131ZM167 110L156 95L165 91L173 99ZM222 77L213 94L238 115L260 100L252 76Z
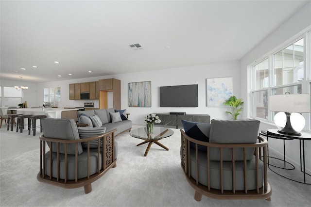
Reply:
M96 122L97 117L95 115L99 117L100 124ZM106 131L116 128L115 136L132 129L132 121L127 119L126 110L110 108L78 111L78 120L79 124L88 124L87 127L106 127ZM96 126L94 126L94 123Z

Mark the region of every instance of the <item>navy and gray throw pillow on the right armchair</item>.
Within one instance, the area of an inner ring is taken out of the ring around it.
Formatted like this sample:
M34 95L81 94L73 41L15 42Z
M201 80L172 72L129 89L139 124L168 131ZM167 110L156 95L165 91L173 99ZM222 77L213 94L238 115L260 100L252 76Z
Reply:
M190 122L185 120L181 120L181 122L188 136L202 142L209 141L210 124ZM195 148L195 144L190 143L190 147ZM198 149L205 152L207 151L207 147L202 145L198 145Z

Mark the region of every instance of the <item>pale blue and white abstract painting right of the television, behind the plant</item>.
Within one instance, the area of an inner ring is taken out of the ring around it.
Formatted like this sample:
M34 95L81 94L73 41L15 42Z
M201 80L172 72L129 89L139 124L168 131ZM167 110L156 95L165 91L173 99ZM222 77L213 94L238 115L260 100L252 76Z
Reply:
M207 79L207 107L225 107L233 95L232 77Z

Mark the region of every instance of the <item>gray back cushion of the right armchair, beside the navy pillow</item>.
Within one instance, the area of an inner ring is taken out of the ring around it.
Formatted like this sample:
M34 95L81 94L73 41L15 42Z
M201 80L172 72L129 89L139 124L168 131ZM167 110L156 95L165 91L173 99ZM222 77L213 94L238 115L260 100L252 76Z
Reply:
M210 143L256 143L260 121L247 120L211 120ZM220 160L219 148L210 147L210 160ZM246 159L253 158L254 148L246 149ZM243 149L235 149L235 160L243 160ZM232 160L231 148L223 149L223 160Z

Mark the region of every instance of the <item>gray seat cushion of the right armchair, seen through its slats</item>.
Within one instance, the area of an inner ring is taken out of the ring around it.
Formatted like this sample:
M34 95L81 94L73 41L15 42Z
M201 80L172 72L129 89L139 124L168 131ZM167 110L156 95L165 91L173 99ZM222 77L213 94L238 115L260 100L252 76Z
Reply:
M199 183L207 186L207 153L198 151ZM190 175L196 180L195 150L190 149ZM232 162L224 161L224 190L232 190ZM259 188L263 186L263 162L259 160ZM221 189L220 185L220 162L210 161L210 187ZM244 190L244 162L235 162L235 188L237 191ZM254 159L247 161L247 189L256 189L256 162Z

